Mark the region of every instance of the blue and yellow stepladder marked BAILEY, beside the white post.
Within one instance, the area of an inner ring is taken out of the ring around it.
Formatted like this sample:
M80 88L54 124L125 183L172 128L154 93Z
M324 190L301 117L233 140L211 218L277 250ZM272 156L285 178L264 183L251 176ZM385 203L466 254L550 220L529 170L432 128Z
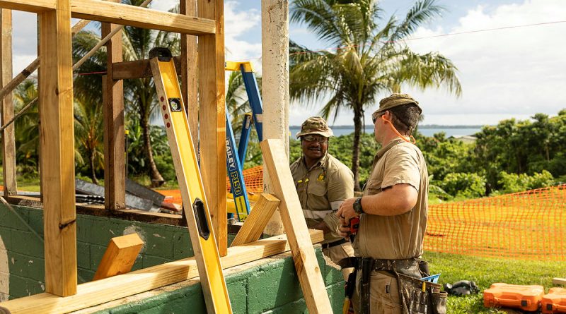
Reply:
M246 87L246 94L248 94L248 100L252 108L252 114L246 114L244 116L237 154L236 140L234 138L230 117L226 111L226 168L228 169L231 192L233 194L234 204L236 205L236 215L238 215L238 220L243 222L250 214L248 192L246 191L246 183L243 181L243 163L246 160L252 120L260 142L263 139L263 109L258 82L255 79L255 73L253 73L250 62L226 61L225 68L226 71L241 71L244 87Z

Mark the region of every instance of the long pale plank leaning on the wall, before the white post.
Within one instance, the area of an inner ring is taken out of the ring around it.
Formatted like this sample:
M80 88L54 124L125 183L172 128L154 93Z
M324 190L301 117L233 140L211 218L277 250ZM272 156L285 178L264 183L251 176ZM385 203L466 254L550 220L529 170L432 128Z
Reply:
M261 143L263 162L267 166L275 190L274 194L281 200L279 212L289 238L308 313L332 313L313 245L308 240L305 217L284 147L282 140L263 140Z

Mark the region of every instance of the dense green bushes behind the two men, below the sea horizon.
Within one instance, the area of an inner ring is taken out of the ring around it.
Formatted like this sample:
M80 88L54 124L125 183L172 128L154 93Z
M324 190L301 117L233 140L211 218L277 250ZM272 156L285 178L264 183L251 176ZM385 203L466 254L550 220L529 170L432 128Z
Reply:
M328 152L350 163L353 136L331 138ZM424 136L417 129L415 138L427 161L432 195L440 200L479 198L566 182L566 109L556 116L503 120L484 126L475 137L475 142L464 143L446 138L445 133ZM380 145L373 133L363 134L361 143L363 184ZM301 155L298 140L291 140L290 152L291 161Z

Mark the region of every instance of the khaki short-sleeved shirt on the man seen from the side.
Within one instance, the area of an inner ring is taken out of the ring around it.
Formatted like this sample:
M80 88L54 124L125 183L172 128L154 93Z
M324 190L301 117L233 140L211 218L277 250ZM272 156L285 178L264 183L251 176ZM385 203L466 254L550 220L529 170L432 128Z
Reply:
M396 216L362 214L353 243L357 256L397 260L422 255L428 215L427 164L419 147L397 138L377 152L364 195L379 194L399 183L417 189L417 204Z

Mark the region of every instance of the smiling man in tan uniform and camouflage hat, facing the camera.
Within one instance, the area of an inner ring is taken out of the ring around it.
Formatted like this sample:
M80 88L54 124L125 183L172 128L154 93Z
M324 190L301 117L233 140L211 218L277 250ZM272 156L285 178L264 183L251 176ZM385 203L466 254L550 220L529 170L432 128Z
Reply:
M320 116L306 119L301 131L302 155L291 164L291 174L301 200L308 228L324 231L323 253L333 262L354 256L354 249L338 234L340 221L335 213L347 198L354 196L354 174L340 160L328 154L332 130ZM344 270L345 279L352 270Z

